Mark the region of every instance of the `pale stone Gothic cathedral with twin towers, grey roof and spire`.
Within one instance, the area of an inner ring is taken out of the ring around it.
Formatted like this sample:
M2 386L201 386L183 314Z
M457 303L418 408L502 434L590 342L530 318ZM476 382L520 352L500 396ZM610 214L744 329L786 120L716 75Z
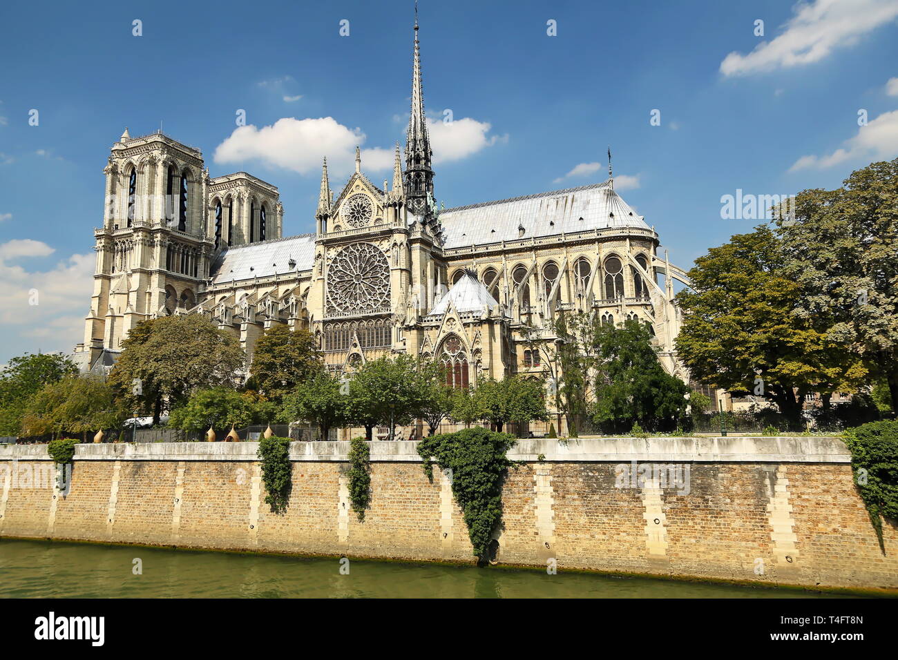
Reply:
M328 367L351 371L383 355L447 365L456 387L543 375L562 312L649 324L659 358L674 353L681 268L609 177L578 188L443 208L425 119L418 22L404 153L383 188L356 171L330 188L327 161L315 232L282 235L277 188L246 172L210 177L201 152L162 132L112 145L106 206L94 229L96 270L85 371L115 361L137 323L203 314L240 340L277 325L310 330ZM659 284L660 280L660 284Z

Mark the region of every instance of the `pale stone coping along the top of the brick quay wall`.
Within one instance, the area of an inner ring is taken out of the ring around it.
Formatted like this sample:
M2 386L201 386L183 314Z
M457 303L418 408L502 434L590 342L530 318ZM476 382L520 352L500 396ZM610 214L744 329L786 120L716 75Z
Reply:
M420 462L418 443L374 441L375 462ZM77 461L256 461L259 443L78 444ZM346 461L348 442L295 442L291 461ZM515 461L547 462L810 462L850 463L848 448L831 436L600 437L568 441L518 440ZM0 462L49 461L46 444L0 444Z

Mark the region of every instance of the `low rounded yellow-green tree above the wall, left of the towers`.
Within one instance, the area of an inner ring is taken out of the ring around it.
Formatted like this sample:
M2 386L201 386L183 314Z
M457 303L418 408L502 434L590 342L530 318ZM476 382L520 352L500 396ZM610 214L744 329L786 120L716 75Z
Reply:
M68 433L86 440L88 432L118 427L126 417L126 409L100 378L67 375L45 385L31 398L22 418L22 430L34 436Z

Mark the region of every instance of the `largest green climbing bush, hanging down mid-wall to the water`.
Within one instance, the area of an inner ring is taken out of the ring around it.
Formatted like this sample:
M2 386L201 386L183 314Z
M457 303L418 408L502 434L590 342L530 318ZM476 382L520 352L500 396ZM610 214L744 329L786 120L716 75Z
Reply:
M452 492L462 509L474 555L489 559L489 542L502 519L502 482L515 462L506 457L515 438L488 428L465 428L456 433L431 436L418 443L427 478L433 480L436 464L451 471Z

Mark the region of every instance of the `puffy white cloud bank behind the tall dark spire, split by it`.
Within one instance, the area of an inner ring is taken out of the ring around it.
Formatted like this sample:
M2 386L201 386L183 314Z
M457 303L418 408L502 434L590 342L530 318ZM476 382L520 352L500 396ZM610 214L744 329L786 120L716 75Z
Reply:
M430 123L429 128L435 163L460 160L507 140L507 136L490 136L489 123L469 118L447 124L437 121ZM213 158L219 164L254 161L305 175L319 172L321 158L327 156L330 172L343 176L355 169L356 146L364 145L366 139L361 128L348 128L332 117L285 117L272 126L234 129L216 147ZM362 149L364 172L389 171L392 164L392 148Z

